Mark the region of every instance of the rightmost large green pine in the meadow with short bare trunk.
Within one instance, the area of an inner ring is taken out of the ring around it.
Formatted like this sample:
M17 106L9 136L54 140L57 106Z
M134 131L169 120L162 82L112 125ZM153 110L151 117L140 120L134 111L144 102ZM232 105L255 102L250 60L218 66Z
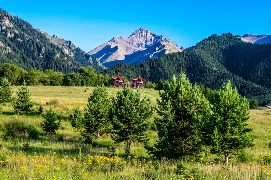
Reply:
M224 162L229 161L229 156L241 152L253 145L247 132L249 119L249 104L246 98L241 97L237 89L232 89L231 83L224 84L217 95L213 95L212 117L206 127L209 130L211 152L224 155Z

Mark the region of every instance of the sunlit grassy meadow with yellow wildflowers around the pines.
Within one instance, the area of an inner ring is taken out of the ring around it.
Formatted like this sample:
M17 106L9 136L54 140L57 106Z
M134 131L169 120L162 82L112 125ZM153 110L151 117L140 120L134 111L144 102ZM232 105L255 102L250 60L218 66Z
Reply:
M14 95L18 87L14 87ZM69 115L80 106L86 107L94 87L29 86L32 100L42 104L44 113L52 107L61 119L56 135L42 131L43 118L32 113L18 116L11 104L0 110L0 179L271 179L271 110L251 110L249 135L255 145L244 153L230 156L228 164L210 153L182 159L152 157L144 145L134 143L131 155L125 155L124 144L112 149L109 135L99 142L84 143L80 133L71 126ZM116 96L121 88L108 88ZM142 97L156 105L158 91L141 89ZM51 104L50 102L57 102ZM154 118L154 117L153 117ZM5 138L4 124L9 121L34 126L40 133L33 139L25 131L15 138ZM150 130L150 144L157 132Z

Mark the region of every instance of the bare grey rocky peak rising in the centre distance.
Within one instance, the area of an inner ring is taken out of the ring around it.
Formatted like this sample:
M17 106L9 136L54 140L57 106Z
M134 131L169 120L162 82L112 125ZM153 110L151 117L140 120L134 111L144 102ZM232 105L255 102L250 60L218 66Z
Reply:
M110 68L118 63L136 64L160 55L181 52L170 39L140 28L128 38L114 37L107 43L88 52Z

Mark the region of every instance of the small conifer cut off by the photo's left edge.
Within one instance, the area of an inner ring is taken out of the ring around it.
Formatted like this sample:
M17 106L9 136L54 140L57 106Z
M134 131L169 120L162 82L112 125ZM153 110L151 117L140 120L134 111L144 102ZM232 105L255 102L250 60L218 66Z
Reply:
M0 103L4 104L11 101L12 97L11 83L4 77L0 86Z

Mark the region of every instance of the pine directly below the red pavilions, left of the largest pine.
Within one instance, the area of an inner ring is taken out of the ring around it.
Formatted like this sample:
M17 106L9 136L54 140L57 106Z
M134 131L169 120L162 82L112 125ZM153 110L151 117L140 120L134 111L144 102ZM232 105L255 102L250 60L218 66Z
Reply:
M113 123L113 139L125 142L131 149L132 142L146 142L147 130L150 128L149 118L154 114L154 107L149 99L140 97L139 90L124 88L112 99L109 117Z

